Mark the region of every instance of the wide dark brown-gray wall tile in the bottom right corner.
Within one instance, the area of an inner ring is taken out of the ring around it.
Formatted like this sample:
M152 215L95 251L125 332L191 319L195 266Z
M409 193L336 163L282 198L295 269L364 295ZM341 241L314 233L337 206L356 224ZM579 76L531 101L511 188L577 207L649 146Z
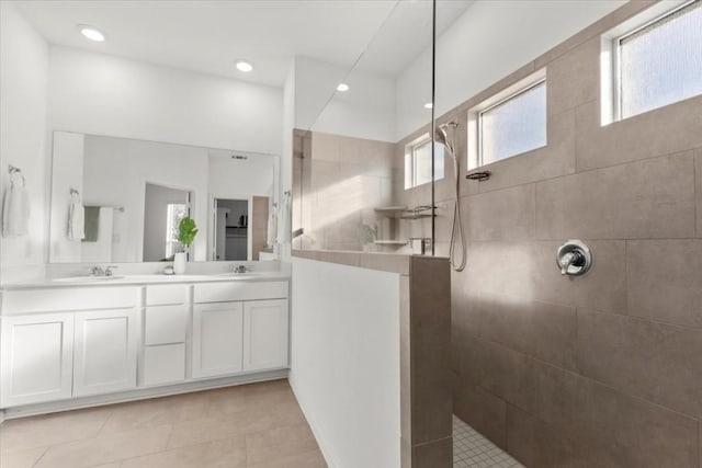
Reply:
M698 422L546 365L536 415L622 467L697 467ZM602 465L600 465L602 466Z

